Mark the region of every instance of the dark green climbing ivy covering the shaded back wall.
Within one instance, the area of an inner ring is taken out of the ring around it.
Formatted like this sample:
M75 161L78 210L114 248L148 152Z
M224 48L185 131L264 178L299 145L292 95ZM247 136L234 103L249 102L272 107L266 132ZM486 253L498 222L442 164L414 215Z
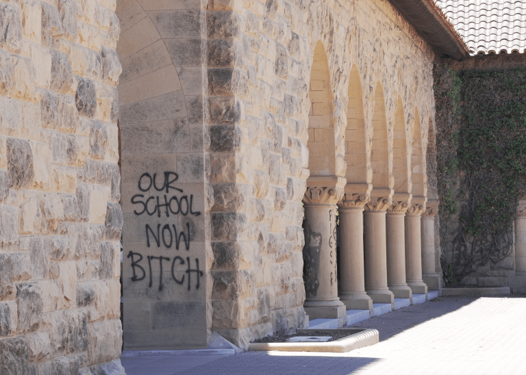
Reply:
M435 73L440 261L455 284L512 252L526 191L526 70Z

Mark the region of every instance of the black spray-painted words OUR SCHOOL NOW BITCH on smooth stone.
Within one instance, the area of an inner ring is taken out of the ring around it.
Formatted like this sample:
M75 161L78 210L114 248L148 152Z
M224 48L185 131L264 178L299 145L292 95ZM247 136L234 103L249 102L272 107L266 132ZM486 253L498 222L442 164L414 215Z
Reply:
M176 194L176 193L184 193L182 189L176 188L173 183L177 181L178 176L175 172L164 172L164 177L162 181L162 185L158 186L157 180L157 174L154 173L153 177L149 173L144 173L139 179L138 182L138 188L141 192L164 192L166 194ZM153 189L153 190L152 190ZM172 190L175 190L172 191ZM132 203L134 205L139 205L140 209L136 209L134 211L134 214L136 216L140 216L142 214L147 214L148 216L153 216L154 214L157 214L158 218L161 218L166 216L166 218L175 217L177 218L178 215L181 216L187 216L188 214L192 216L199 216L201 215L201 211L195 211L193 208L193 202L194 202L194 196L193 194L184 195L184 196L176 196L171 195L168 196L166 194L162 194L162 196L149 196L145 199L144 194L136 194L132 196ZM146 242L147 246L155 246L157 245L158 248L161 247L161 244L164 245L165 248L173 248L175 246L175 250L179 250L181 246L184 246L184 248L189 251L190 250L190 223L187 222L185 224L186 231L183 229L182 231L179 231L177 228L177 224L157 224L157 227L151 227L149 224L145 224L145 232L146 232ZM180 229L180 228L179 228ZM177 261L179 261L179 265L184 265L185 260L182 257L176 256L176 257L164 257L162 255L159 256L153 256L148 255L147 261L148 261L148 271L145 270L146 264L141 265L141 261L144 258L141 253L136 253L133 251L130 251L127 255L128 258L130 258L130 261L132 262L132 271L133 276L131 277L131 280L133 282L141 281L145 279L147 274L149 274L149 285L148 287L152 287L153 285L153 273L152 273L152 262L155 264L156 261L158 261L158 270L159 270L159 291L162 291L164 288L164 279L162 276L163 273L163 261L168 263L170 260L171 262L171 279L175 281L175 283L182 285L185 280L187 280L188 284L188 290L190 290L190 275L192 273L195 273L197 276L197 283L196 283L196 289L199 289L199 279L201 276L203 276L203 271L199 270L199 259L195 259L196 268L192 269L190 267L190 257L186 257L186 273L181 277L181 279L177 279L175 276L175 265ZM166 265L166 263L164 263ZM143 267L145 266L145 267ZM155 268L157 268L155 266Z

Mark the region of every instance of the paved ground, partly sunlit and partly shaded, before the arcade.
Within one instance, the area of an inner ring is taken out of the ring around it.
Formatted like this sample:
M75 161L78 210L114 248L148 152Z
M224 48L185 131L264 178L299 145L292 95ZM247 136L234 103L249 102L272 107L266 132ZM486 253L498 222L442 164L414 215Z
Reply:
M526 374L526 298L440 297L366 320L379 344L346 354L123 358L127 375Z

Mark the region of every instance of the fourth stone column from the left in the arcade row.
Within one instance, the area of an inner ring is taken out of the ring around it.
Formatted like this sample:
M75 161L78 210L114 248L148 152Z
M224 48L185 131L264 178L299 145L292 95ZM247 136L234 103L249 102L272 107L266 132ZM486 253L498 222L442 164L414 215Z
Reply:
M412 298L405 282L405 211L411 194L395 194L386 215L387 285L395 298Z

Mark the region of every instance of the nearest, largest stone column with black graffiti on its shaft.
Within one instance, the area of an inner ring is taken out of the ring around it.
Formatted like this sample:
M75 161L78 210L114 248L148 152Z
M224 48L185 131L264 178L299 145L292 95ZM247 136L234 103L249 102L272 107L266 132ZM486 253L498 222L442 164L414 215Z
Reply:
M308 181L308 188L303 197L305 203L303 308L310 319L338 318L339 326L345 326L347 315L345 305L338 298L336 274L336 203L343 196L345 179L338 179L338 182L340 183L309 186Z

